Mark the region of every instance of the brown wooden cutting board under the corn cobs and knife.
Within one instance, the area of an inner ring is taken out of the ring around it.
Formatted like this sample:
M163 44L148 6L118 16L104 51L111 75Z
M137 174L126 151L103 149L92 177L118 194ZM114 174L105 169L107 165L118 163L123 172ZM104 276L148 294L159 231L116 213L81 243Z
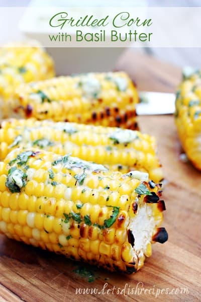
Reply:
M140 90L173 92L180 78L179 68L131 50L121 57L117 69L128 71ZM1 235L0 302L154 301L156 296L157 301L165 302L201 300L201 173L179 160L181 149L172 116L140 117L139 122L142 131L158 139L168 182L163 193L167 208L163 226L169 233L168 242L155 244L152 257L133 275L84 265L81 268L93 274L94 281L89 283L87 276L73 271L78 265L63 256ZM93 292L76 294L78 288ZM182 288L188 293L181 293ZM166 290L173 290L172 294Z

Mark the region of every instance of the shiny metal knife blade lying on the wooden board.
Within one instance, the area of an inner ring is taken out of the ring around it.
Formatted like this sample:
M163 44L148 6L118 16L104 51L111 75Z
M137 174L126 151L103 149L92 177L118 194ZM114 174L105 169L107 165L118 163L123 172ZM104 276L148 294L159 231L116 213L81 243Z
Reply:
M141 103L137 104L138 115L173 114L175 95L164 92L139 92Z

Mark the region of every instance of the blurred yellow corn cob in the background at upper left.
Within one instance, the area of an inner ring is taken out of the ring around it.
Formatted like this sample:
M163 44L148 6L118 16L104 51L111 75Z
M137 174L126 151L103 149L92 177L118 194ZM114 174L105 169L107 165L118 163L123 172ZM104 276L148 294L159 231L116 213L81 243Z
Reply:
M51 57L39 43L13 43L0 48L0 118L8 117L9 101L20 84L54 77Z

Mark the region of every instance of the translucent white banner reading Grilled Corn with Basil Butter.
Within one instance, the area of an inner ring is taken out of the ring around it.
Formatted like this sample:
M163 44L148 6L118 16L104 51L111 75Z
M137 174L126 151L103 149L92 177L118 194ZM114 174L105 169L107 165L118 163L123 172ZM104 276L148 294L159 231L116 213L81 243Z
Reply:
M45 47L201 47L200 19L199 7L1 8L0 42L23 35Z

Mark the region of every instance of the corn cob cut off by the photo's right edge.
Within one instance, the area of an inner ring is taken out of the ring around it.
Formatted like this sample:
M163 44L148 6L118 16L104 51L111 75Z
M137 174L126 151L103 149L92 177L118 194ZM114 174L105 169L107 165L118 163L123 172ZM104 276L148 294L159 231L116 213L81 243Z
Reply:
M201 71L184 77L178 88L175 121L188 159L201 170Z

